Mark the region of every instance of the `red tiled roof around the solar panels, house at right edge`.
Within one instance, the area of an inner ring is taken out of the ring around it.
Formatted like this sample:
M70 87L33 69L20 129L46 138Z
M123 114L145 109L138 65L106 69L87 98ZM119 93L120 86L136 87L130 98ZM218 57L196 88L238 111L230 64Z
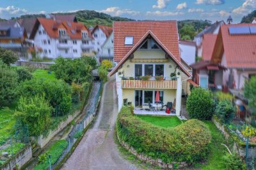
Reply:
M230 35L228 27L255 26L255 24L228 24L221 26L212 59L220 63L225 52L228 68L256 68L256 35Z

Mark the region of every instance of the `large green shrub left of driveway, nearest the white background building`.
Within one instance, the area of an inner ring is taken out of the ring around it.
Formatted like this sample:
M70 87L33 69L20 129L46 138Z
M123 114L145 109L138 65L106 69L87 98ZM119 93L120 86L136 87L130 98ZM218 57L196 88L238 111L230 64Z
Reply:
M57 79L63 79L68 84L92 81L92 66L84 64L80 58L58 58L55 63L55 65L51 65L51 70L54 71Z

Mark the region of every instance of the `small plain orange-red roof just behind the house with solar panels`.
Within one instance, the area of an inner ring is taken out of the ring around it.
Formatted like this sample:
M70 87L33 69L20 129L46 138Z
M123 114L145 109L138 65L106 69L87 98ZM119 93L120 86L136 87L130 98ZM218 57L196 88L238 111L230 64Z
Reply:
M203 36L203 42L202 42L202 58L205 61L210 61L212 57L212 52L214 49L214 45L217 39L217 35L212 34L206 34Z

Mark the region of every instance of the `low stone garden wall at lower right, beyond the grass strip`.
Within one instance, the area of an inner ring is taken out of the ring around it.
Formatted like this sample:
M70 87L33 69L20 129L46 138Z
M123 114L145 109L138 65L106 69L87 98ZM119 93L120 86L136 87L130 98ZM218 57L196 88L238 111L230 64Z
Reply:
M220 121L218 121L216 118L212 118L212 122L216 125L216 127L222 132L225 139L232 138L232 135L230 135L230 132L228 132L225 125L221 124ZM239 154L241 157L245 157L246 153L246 147L245 144L239 144L236 141L234 141L232 151L235 151L237 154ZM254 158L256 157L256 146L250 146L248 148L248 158Z

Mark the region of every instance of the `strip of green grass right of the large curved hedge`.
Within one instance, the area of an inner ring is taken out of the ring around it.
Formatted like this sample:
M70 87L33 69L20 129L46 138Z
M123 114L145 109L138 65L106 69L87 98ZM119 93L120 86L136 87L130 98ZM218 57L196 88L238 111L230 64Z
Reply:
M205 170L225 169L222 157L227 153L227 148L221 145L221 143L225 144L225 138L212 121L204 121L204 123L212 135L211 153L205 165L196 165L196 167Z

